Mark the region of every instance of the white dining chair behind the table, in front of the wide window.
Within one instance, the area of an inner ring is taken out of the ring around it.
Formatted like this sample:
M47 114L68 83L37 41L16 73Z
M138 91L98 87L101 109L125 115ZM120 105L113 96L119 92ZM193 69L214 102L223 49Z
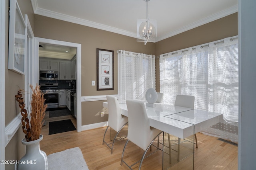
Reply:
M174 106L187 107L187 108L194 109L194 103L195 103L195 97L194 96L177 95L176 99L175 99ZM194 136L195 136L195 141L196 141L196 148L198 148L196 134L194 134ZM170 135L169 134L168 134L168 139L170 141ZM180 138L178 138L178 161L180 161Z

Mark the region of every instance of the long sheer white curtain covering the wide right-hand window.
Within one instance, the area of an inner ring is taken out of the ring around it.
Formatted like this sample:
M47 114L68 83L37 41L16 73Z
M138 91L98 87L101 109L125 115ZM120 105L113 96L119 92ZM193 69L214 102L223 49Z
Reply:
M238 141L237 36L160 55L160 92L167 104L195 96L195 109L223 114L204 133Z

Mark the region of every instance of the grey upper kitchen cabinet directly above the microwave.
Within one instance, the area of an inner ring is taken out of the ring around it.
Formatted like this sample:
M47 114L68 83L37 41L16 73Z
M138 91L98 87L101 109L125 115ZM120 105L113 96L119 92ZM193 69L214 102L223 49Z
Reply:
M39 59L39 70L40 71L58 71L59 61L51 59Z

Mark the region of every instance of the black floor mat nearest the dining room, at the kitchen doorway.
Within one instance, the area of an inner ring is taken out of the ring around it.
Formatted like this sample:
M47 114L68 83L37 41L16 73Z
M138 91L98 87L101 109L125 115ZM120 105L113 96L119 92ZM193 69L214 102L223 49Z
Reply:
M75 130L76 127L73 125L70 119L49 122L49 135Z

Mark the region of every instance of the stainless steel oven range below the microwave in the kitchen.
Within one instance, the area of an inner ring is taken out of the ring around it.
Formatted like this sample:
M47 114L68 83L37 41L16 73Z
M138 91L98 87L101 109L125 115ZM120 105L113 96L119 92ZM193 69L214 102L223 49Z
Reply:
M59 107L59 90L58 83L55 81L43 81L40 82L40 90L45 93L44 98L45 104L48 105L49 108Z

